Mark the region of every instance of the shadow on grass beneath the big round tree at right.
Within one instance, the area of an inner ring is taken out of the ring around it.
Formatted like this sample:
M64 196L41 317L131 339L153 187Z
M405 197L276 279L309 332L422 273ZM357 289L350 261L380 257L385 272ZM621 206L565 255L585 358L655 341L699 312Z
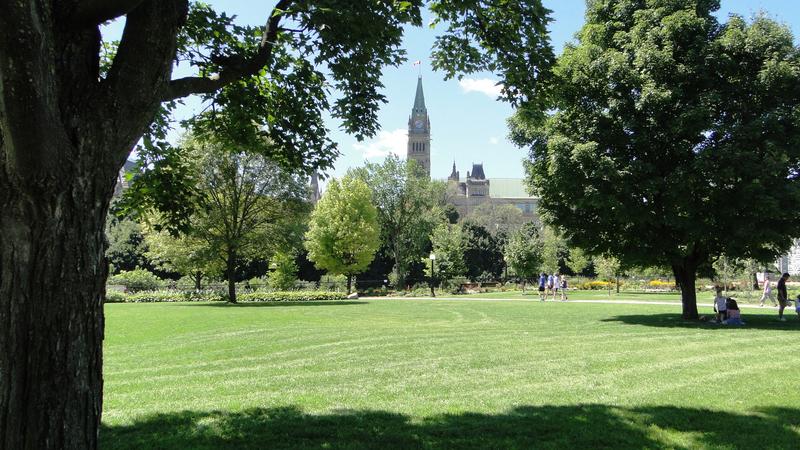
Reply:
M714 317L714 314L706 314L705 316L711 319ZM631 314L603 319L602 322L621 322L627 325L644 325L648 327L694 328L709 330L756 329L797 331L800 329L800 321L798 321L796 317L791 317L788 315L786 322L778 321L777 314L742 314L742 320L745 321L745 325L723 325L708 321L684 320L680 314Z

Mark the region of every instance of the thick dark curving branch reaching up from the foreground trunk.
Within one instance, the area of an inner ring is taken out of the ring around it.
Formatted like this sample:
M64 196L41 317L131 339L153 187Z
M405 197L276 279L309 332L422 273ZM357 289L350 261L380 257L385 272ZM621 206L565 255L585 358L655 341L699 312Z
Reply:
M272 9L270 18L264 26L258 53L255 56L235 66L223 67L220 73L213 77L184 77L172 80L164 96L164 101L175 100L191 94L210 94L226 84L261 70L272 57L275 39L281 30L280 21L283 18L283 11L287 10L291 4L292 0L280 0Z

